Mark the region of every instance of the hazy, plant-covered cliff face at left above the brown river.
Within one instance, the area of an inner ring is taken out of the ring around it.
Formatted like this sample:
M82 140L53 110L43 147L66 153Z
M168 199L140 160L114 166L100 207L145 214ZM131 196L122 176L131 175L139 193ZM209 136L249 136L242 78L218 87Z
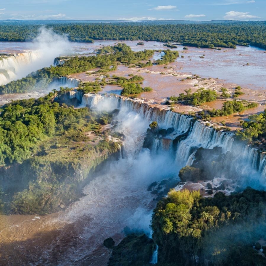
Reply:
M58 147L53 151L61 153L62 157L54 158L49 153L34 156L22 164L1 167L2 211L7 214L48 214L65 209L83 195L82 188L92 180L97 166L115 159L120 149L115 142L106 142L104 149L71 148ZM66 154L68 158L64 158Z

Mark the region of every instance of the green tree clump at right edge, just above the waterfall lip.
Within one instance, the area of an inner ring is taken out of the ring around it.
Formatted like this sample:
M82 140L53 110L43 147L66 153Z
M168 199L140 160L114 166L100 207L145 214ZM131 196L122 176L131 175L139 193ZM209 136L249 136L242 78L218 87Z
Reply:
M245 141L260 140L265 143L266 138L266 109L258 115L250 115L249 121L242 123L244 131L236 133L238 138Z

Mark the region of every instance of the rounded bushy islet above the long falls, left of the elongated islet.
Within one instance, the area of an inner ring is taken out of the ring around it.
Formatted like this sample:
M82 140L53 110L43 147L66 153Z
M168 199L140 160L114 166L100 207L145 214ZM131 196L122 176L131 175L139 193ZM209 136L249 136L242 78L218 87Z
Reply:
M177 103L182 101L184 104L201 105L204 102L214 101L217 99L217 93L210 89L200 88L196 92L191 93L191 89L185 90L185 93L180 93L179 96L170 97L170 101Z

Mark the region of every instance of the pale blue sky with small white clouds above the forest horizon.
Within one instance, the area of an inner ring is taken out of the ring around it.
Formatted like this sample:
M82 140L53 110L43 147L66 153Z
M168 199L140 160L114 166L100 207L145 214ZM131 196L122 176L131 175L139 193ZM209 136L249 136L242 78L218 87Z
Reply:
M266 20L266 0L7 0L0 19Z

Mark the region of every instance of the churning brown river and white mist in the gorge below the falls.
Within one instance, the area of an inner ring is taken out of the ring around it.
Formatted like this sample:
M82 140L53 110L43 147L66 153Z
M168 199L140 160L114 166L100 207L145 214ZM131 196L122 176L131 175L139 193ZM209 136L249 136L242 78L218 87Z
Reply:
M99 108L102 107L100 104ZM120 121L115 130L126 136L124 157L111 162L109 168L83 189L86 196L65 212L40 216L40 219L36 215L7 217L9 223L0 228L0 238L3 255L9 256L10 262L106 265L109 251L102 245L104 239L111 236L116 241L121 240L125 226L143 229L150 234L155 201L152 201L154 196L147 187L154 181L175 175L178 169L167 154L155 155L142 149L149 118L124 107L115 119ZM43 243L38 242L35 252L25 255L25 249L39 241L41 235ZM10 247L15 250L12 254Z

